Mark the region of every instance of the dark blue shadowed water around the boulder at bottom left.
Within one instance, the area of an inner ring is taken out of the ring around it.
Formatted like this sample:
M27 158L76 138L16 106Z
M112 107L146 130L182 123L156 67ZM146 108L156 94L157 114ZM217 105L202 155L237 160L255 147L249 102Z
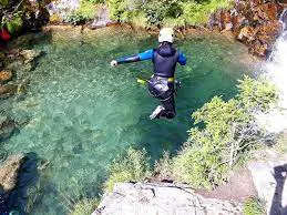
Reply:
M33 197L31 187L35 187L39 182L40 173L38 163L40 158L35 153L27 153L23 163L20 166L16 188L9 193L0 193L0 214L8 215L8 212L18 212L28 214L27 209L31 208Z

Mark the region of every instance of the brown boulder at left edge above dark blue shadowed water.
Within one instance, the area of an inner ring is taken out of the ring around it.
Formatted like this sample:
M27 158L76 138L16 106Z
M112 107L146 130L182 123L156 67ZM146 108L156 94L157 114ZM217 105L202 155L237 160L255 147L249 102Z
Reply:
M10 192L16 187L23 158L23 154L11 155L0 165L0 187L4 192Z

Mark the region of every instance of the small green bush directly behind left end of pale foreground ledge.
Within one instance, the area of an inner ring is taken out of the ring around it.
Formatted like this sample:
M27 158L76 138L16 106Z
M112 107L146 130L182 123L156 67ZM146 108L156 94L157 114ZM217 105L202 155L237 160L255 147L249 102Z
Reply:
M146 151L129 149L124 157L114 160L109 168L107 191L112 191L117 182L137 182L151 175Z

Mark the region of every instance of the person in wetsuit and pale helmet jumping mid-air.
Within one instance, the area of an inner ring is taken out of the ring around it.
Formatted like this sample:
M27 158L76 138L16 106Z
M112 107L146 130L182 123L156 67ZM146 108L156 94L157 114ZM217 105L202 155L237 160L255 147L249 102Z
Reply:
M186 58L181 52L173 48L174 31L171 28L163 28L158 34L160 45L157 49L151 49L143 53L139 53L132 57L124 57L111 62L111 66L116 66L123 63L131 63L144 60L153 61L153 75L147 81L150 93L161 101L150 119L166 117L173 119L176 115L175 112L175 68L178 62L181 65L186 64Z

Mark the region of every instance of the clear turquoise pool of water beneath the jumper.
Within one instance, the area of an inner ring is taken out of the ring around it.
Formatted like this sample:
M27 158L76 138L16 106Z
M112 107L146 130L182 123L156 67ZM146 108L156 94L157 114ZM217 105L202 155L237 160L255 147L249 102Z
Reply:
M177 68L177 116L150 121L157 101L135 80L148 78L152 63L110 68L110 61L156 47L154 35L106 28L35 40L30 48L45 55L31 72L28 93L1 103L18 121L29 119L1 152L34 152L50 162L32 214L65 214L64 196L95 196L109 164L129 146L145 147L152 161L163 150L175 152L187 139L191 113L214 95L233 96L236 80L253 70L246 48L223 35L194 33L176 44L188 59Z

